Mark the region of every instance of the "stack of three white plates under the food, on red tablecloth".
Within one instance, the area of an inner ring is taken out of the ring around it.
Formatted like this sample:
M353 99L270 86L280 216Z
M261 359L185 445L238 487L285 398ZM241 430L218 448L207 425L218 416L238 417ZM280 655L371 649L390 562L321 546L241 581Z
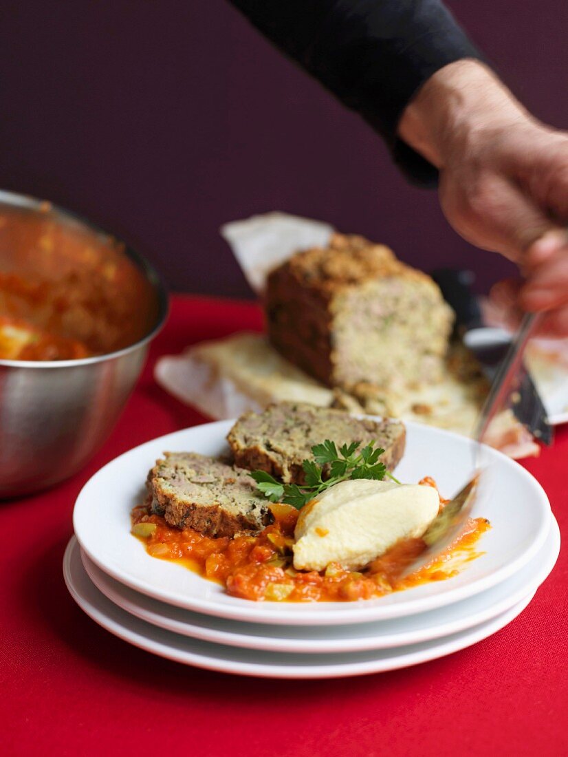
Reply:
M64 558L73 598L99 625L154 654L244 675L332 678L403 668L464 649L507 625L551 572L560 533L539 483L484 448L472 516L492 528L483 552L447 581L346 603L256 603L229 597L191 570L147 555L130 534L154 461L168 451L216 455L231 422L178 431L113 460L76 502ZM436 479L444 496L469 480L466 438L408 423L397 477Z

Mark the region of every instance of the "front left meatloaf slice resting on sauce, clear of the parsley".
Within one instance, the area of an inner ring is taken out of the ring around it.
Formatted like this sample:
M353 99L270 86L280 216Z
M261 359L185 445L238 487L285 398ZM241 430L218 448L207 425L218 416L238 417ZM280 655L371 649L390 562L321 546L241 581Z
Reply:
M206 536L256 533L272 523L247 471L194 452L166 452L147 478L152 512Z

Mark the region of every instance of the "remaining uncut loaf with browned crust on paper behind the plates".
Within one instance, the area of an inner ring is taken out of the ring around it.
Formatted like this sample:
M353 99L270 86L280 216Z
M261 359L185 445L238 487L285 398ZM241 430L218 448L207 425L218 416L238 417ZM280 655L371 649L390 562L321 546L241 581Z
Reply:
M348 391L438 381L453 321L429 276L384 245L340 234L268 275L265 313L287 360Z

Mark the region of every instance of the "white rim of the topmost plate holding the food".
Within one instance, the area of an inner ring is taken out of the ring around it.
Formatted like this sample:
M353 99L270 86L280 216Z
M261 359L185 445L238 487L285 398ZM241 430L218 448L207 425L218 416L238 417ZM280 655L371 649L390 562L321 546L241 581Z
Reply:
M369 417L376 419L378 416ZM433 595L432 597L419 597L417 599L411 600L411 602L401 602L388 606L381 606L380 600L377 600L378 604L377 602L373 605L367 604L365 605L365 607L359 606L358 603L351 603L355 606L352 607L352 609L350 608L349 612L346 612L346 609L343 607L343 604L346 603L326 603L331 607L331 609L326 608L326 611L318 610L317 615L309 615L309 609L311 606L306 603L296 603L298 604L298 607L287 607L284 612L282 612L281 610L275 612L274 609L272 609L272 615L270 615L268 613L271 612L271 609L262 609L265 607L264 604L252 603L250 602L250 600L240 600L243 604L235 603L223 605L222 603L216 602L216 600L191 598L191 596L182 596L171 590L157 590L144 581L132 577L123 569L116 569L113 565L105 564L103 561L98 559L98 556L96 554L92 553L92 550L90 550L88 545L85 544L84 540L82 540L80 529L77 528L77 513L80 512L82 502L85 497L88 496L86 494L88 492L88 488L96 477L102 475L104 471L106 471L110 466L116 465L123 458L132 455L135 452L140 452L141 450L144 450L145 447L154 445L157 446L158 443L160 443L160 446L175 444L175 441L173 441L175 440L175 438L186 435L188 432L194 431L194 429L197 428L209 428L213 433L218 429L219 431L220 429L228 430L228 428L230 428L233 423L234 420L213 421L210 423L197 424L188 428L182 428L178 431L173 431L169 434L150 439L143 442L142 444L138 444L136 447L132 447L130 450L126 450L126 452L110 460L106 465L98 469L98 471L95 472L95 474L92 475L92 477L89 478L82 487L78 497L76 498L76 503L73 508L73 528L76 533L77 539L79 540L79 544L81 545L82 550L84 550L87 554L88 558L91 559L92 562L94 562L95 565L97 565L98 568L100 568L103 572L107 573L107 575L110 575L111 578L114 578L116 581L119 581L119 583L125 584L135 591L146 594L148 597L160 600L161 602L164 602L166 604L183 607L185 609L191 609L195 612L203 613L204 615L215 615L216 617L231 618L233 620L281 625L326 625L331 623L333 623L334 625L349 625L350 623L372 621L375 619L386 620L402 617L403 615L414 614L417 612L427 612L430 609L436 609L437 607L445 606L449 603L467 599L467 597L471 597L476 593L480 593L481 591L486 590L489 587L492 587L500 583L501 581L506 580L507 578L510 578L511 575L514 575L517 570L520 570L523 565L526 565L526 563L535 556L535 554L542 547L542 544L544 544L547 537L548 519L545 519L543 525L539 530L539 533L537 534L537 537L532 542L532 545L528 550L526 550L522 555L518 556L517 559L514 559L512 562L504 565L504 567L502 567L497 572L486 575L485 577L480 578L471 584L466 584L454 589L450 587L449 590ZM455 433L455 431L446 431L445 429L434 428L412 421L405 422L405 426L407 428L407 431L411 428L417 428L418 431L427 431L428 434L433 434L435 436L440 435L442 437L449 436L450 438L455 438L460 442L460 444L475 444L475 442L473 442L472 440L464 437L463 435ZM515 460L507 457L499 450L495 450L492 447L487 447L485 444L483 444L482 447L484 451L489 452L489 454L493 456L497 456L498 459L502 459L504 465L513 466L514 468L516 468L519 475L526 478L527 481L530 481L531 484L535 486L537 491L539 492L540 506L546 506L548 508L548 512L551 512L548 496L542 488L542 485L532 474L524 469L523 466L520 466L519 463L517 463ZM202 578L202 580L206 581L206 578ZM449 580L451 581L451 579ZM368 601L372 602L373 600ZM342 609L334 609L334 606L337 606L339 604L342 604ZM408 612L409 604L412 605L410 612Z

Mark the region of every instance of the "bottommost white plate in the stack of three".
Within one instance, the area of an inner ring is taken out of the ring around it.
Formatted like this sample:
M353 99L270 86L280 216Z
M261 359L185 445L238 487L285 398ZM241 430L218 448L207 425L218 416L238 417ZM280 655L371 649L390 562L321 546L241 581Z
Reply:
M160 657L197 668L262 678L341 678L407 668L436 659L485 639L510 623L528 605L533 593L497 618L444 639L390 650L342 654L288 654L222 646L172 634L129 615L104 597L85 572L80 551L70 541L64 577L71 596L87 615L111 634Z

